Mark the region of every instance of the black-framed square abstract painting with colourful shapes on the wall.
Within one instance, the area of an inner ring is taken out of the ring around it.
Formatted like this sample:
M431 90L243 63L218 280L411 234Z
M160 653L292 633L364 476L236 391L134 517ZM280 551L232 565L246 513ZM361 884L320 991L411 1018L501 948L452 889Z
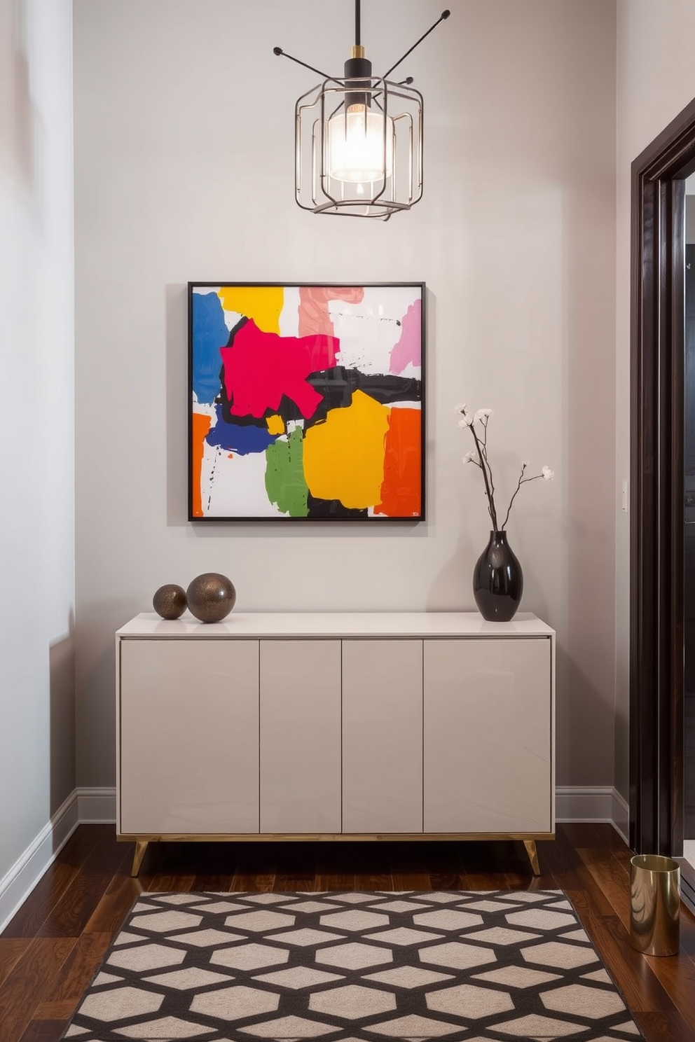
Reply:
M424 284L189 284L189 518L422 520Z

